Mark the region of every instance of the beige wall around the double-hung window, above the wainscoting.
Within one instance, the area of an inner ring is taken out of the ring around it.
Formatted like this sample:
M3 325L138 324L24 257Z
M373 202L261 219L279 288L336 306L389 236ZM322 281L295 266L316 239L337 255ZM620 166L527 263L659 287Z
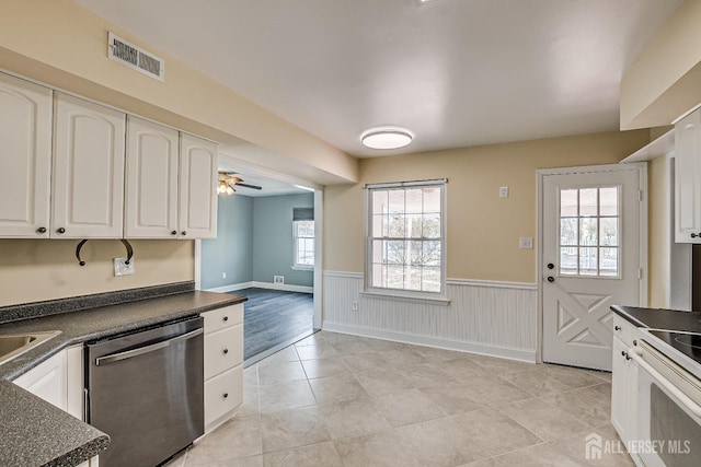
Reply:
M607 132L363 160L359 184L324 190L324 269L364 270L364 184L446 177L448 277L535 282L536 249L518 238L537 236L536 171L617 163L647 142Z

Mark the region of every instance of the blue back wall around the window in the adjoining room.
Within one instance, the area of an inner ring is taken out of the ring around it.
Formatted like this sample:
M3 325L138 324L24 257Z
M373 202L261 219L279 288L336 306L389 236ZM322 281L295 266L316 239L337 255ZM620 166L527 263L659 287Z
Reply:
M313 271L291 269L294 258L292 209L313 208L314 195L268 196L253 200L253 280L273 282L285 276L285 283L313 285Z

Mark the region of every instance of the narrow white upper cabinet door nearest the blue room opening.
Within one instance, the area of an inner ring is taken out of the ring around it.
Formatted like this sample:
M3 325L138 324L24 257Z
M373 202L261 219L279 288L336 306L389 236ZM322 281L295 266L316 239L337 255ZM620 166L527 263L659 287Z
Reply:
M217 236L217 144L210 141L181 133L181 238Z

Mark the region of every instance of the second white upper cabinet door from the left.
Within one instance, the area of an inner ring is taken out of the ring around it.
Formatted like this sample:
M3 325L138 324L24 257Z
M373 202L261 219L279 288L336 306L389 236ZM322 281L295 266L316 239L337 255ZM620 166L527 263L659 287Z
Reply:
M125 114L56 94L51 237L122 238Z

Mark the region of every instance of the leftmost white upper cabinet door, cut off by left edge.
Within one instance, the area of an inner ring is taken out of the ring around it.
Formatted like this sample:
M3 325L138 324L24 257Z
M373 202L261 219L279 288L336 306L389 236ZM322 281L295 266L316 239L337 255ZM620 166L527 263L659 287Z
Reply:
M51 90L0 74L0 237L48 238Z

